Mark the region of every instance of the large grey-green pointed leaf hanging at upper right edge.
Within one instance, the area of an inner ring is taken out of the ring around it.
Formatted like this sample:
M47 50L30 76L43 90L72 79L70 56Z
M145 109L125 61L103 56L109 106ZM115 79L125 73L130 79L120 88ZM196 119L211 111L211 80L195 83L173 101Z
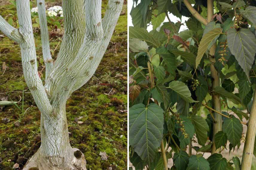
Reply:
M255 35L246 28L240 28L239 31L230 28L227 34L229 50L249 79L249 72L256 53L256 48L254 48L256 46Z

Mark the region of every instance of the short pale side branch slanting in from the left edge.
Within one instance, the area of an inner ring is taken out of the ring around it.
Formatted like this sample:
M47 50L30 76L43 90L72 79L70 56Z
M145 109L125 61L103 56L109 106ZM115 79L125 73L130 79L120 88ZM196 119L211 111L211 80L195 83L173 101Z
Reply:
M0 31L17 43L21 43L23 41L19 30L12 27L2 16L0 16Z

